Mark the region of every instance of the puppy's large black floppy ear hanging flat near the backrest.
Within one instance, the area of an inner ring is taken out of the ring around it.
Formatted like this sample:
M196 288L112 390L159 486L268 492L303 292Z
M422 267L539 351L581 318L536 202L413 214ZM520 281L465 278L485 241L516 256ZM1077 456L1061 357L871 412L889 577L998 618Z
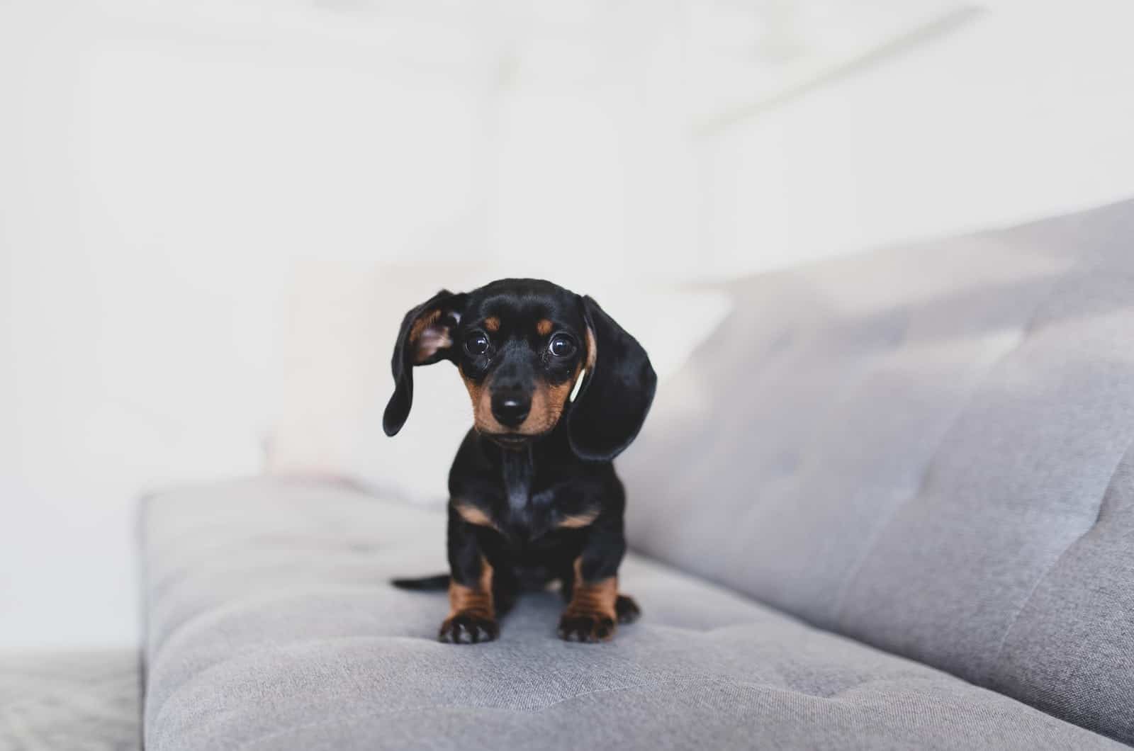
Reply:
M637 339L591 297L586 320L586 376L567 414L567 439L582 459L609 462L634 440L650 412L658 376Z

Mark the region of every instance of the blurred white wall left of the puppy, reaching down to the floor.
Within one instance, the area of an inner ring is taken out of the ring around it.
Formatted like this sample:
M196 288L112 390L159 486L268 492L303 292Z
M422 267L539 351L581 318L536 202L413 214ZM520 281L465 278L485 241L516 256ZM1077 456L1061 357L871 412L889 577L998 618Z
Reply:
M120 6L0 6L0 644L135 639L138 493L260 470L296 263L480 231L459 65Z

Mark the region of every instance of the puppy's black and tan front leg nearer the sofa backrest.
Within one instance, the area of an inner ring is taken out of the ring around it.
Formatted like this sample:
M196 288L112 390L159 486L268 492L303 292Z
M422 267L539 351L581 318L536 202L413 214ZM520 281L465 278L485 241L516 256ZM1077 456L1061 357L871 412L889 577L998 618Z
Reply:
M616 624L636 617L634 600L618 594L618 566L626 555L621 530L601 520L587 530L582 554L575 559L570 601L559 618L559 638L599 642L615 635ZM624 617L633 608L633 617Z

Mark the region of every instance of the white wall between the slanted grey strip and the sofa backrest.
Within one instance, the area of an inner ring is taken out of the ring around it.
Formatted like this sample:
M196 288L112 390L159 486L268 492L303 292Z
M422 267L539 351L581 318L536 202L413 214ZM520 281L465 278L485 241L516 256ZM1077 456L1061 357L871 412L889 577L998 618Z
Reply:
M706 263L786 265L1134 195L1134 5L985 6L703 137Z

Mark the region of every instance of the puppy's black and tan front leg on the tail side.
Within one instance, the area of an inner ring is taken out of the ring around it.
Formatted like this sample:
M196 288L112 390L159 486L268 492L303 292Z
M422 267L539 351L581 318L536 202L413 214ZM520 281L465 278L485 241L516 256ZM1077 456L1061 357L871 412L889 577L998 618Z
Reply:
M449 508L449 617L438 639L475 644L500 635L492 601L492 566L476 541L475 530Z

